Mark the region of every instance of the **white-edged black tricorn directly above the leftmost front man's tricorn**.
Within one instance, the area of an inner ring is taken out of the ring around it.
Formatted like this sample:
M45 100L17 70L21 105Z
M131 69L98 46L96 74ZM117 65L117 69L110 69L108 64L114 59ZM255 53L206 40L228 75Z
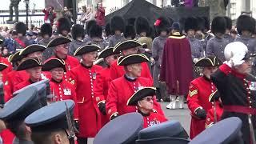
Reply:
M46 50L46 46L42 46L42 45L38 45L38 44L32 44L30 46L26 46L26 48L24 48L23 50L21 50L19 52L20 55L28 55L28 54L32 54L34 52L37 51L44 51Z

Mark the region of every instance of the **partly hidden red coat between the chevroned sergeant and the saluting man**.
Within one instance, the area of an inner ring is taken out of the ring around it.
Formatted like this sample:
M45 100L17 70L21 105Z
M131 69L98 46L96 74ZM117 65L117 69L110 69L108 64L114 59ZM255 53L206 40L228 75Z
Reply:
M220 106L219 102L216 102L216 118L217 122L222 120L222 114L223 114L223 108ZM208 110L207 116L206 116L206 128L214 125L214 108L211 108Z

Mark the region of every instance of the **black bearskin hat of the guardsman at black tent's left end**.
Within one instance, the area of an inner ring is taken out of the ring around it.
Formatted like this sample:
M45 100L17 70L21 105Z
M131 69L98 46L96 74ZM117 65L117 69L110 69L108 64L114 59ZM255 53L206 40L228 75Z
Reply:
M126 24L125 20L121 16L114 16L110 20L110 30L114 34L116 30L120 30L121 33L125 31Z

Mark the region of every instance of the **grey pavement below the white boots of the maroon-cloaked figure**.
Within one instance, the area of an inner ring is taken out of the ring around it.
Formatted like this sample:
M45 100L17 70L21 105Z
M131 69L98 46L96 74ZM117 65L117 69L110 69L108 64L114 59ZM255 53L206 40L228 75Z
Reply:
M184 105L184 109L170 110L166 109L166 106L169 104L169 102L160 102L160 104L162 106L162 110L166 115L166 118L168 118L169 120L177 120L178 122L181 122L187 134L190 134L191 116L190 110L188 109L187 105Z

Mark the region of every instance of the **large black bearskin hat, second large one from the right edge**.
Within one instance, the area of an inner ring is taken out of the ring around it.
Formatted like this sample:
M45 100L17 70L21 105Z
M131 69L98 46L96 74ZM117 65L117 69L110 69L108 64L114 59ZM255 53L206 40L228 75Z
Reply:
M217 16L211 22L211 32L213 34L221 33L225 34L226 32L226 20L223 17Z

